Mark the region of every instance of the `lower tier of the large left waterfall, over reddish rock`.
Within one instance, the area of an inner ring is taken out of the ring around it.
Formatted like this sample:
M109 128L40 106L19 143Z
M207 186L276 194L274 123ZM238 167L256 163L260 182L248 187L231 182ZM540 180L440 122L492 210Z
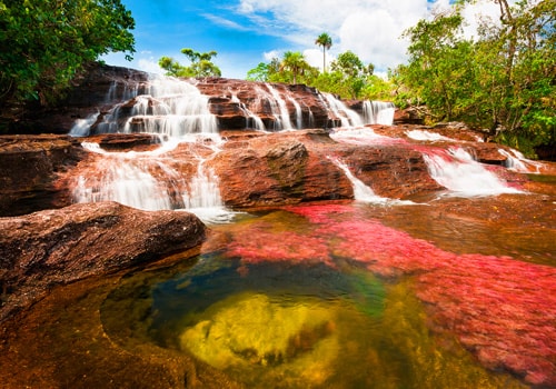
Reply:
M102 158L96 161L92 174L77 178L75 202L117 201L148 211L187 210L208 222L226 221L232 215L224 207L218 177L205 167L205 159L199 158L197 173L187 180L157 150L107 152L98 143L82 146Z

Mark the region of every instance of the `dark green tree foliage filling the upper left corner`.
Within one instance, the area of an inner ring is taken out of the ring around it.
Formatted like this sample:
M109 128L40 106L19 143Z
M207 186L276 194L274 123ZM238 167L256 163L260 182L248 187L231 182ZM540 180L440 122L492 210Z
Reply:
M56 101L82 66L135 52L120 0L0 1L0 101Z

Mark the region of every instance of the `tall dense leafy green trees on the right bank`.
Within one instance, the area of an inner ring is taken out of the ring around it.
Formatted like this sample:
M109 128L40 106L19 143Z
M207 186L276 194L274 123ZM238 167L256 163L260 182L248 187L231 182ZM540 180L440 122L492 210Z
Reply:
M476 41L460 34L465 1L410 28L409 63L395 84L434 119L486 128L533 157L535 146L556 143L556 2L497 3L500 23L484 20Z

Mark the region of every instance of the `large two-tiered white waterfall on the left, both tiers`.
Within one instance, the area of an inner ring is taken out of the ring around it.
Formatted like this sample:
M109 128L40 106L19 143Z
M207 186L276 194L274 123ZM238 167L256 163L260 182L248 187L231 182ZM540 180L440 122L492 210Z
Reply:
M162 147L146 152L106 152L96 143L83 143L101 157L95 177L77 179L75 201L112 200L143 210L187 209L206 221L224 221L231 213L222 205L218 177L205 167L206 159L198 157L197 173L186 179L165 154L180 142L202 148L207 148L207 139L221 142L208 99L188 82L161 77L151 79L146 92L116 104L96 132L148 132L160 136ZM86 132L90 129L81 126L80 133ZM212 156L219 151L218 147L210 149Z

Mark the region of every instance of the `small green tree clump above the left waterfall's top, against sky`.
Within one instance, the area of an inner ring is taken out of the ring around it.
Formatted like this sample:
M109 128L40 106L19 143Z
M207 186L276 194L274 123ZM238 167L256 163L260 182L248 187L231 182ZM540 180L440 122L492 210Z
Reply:
M158 64L166 70L167 76L187 78L222 76L220 69L212 63L212 57L217 56L216 51L198 52L192 49L181 49L181 53L189 59L190 66L181 66L170 57L162 57L158 60Z

